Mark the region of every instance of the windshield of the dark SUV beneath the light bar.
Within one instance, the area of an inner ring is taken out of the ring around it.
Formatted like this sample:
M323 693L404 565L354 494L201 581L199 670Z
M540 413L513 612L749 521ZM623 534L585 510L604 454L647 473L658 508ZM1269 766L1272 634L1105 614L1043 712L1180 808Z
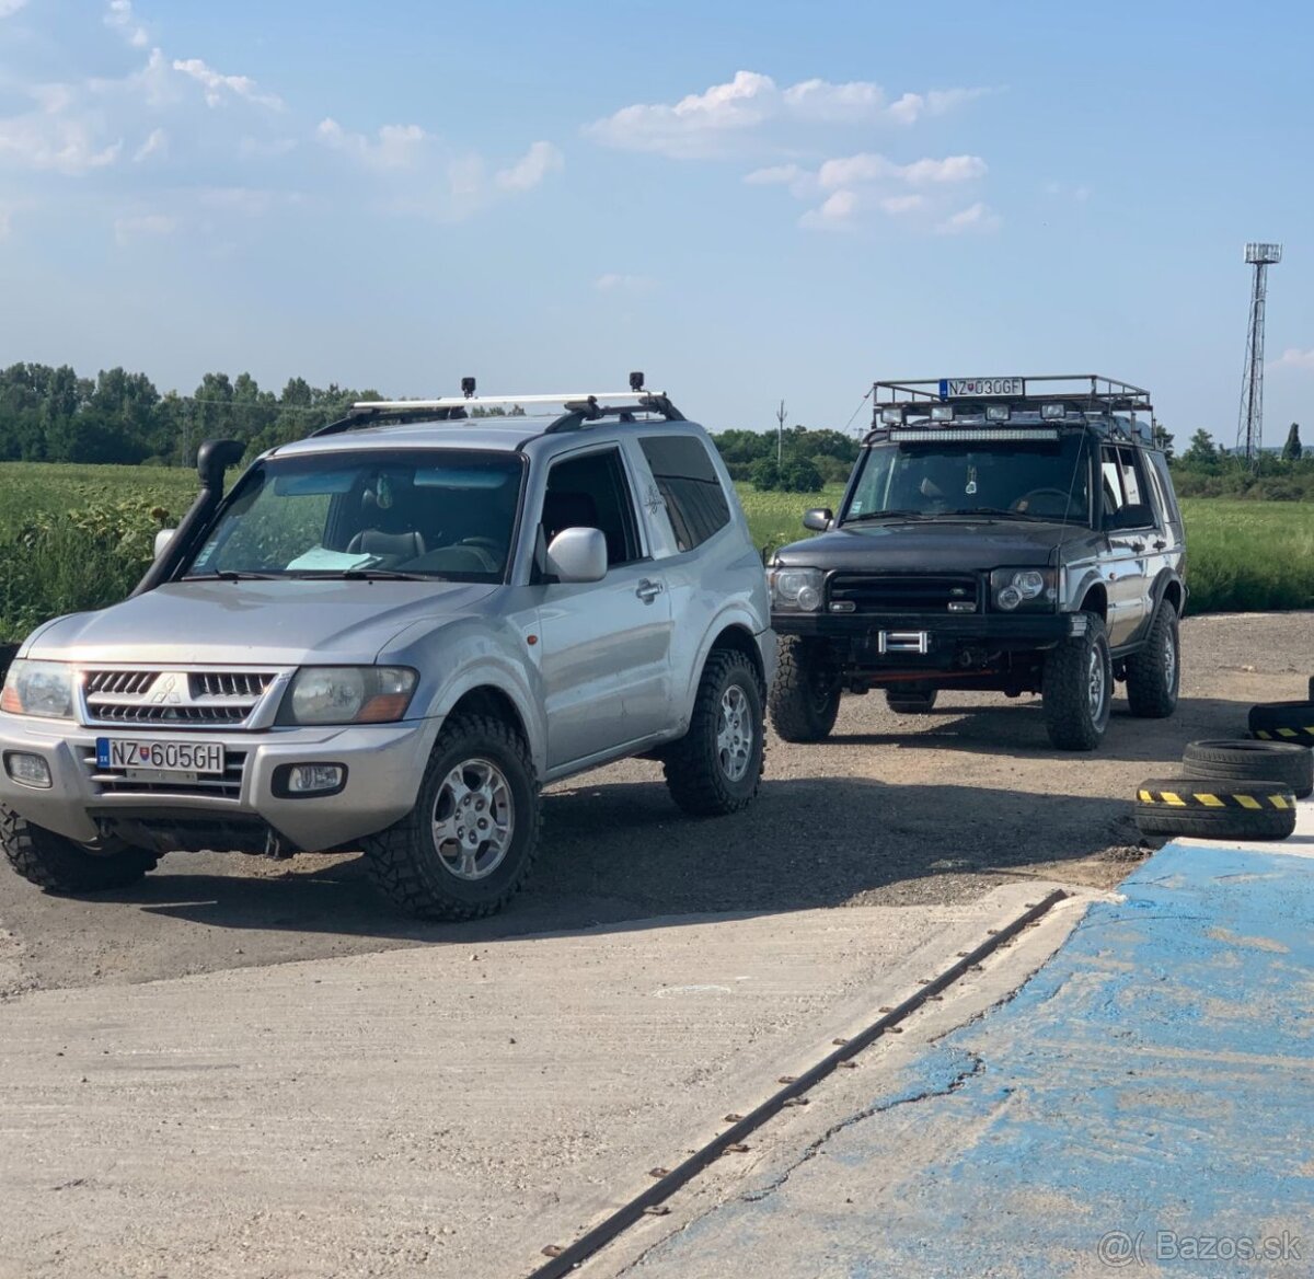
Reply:
M862 457L842 523L953 515L1088 523L1085 438L879 442Z

